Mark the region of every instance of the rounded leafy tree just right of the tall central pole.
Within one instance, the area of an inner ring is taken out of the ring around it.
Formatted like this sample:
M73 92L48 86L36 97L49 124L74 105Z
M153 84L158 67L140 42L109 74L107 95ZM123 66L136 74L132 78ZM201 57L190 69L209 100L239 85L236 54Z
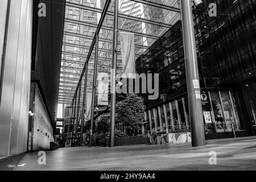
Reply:
M124 94L115 107L115 121L123 123L127 129L138 129L144 122L142 97L137 94Z

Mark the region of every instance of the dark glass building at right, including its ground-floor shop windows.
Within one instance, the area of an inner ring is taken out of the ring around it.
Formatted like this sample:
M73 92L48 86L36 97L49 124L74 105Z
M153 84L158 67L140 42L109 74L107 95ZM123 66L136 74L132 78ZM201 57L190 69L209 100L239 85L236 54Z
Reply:
M217 16L208 14L217 4ZM210 138L255 133L256 1L204 1L193 10L205 134ZM159 98L145 97L150 131L189 131L181 22L137 59L138 73L159 73Z

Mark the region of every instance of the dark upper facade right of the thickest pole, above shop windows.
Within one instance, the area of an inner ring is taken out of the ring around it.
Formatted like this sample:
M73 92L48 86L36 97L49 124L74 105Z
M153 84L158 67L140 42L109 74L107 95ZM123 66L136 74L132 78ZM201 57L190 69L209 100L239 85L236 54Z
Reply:
M208 87L256 68L256 1L217 2L222 12L217 17L209 17L206 10L205 15L195 15L199 60Z

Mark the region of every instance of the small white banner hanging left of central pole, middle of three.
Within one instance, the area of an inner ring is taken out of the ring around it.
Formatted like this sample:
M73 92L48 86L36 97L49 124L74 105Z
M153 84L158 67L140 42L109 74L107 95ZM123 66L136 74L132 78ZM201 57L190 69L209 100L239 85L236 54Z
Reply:
M98 73L98 105L109 105L109 74Z

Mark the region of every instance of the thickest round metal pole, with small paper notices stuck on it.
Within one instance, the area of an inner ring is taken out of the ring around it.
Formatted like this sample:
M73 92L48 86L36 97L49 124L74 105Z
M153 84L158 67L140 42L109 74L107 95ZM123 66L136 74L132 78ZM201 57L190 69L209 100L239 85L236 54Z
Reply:
M205 146L205 134L191 0L181 0L180 5L192 146L199 147Z

